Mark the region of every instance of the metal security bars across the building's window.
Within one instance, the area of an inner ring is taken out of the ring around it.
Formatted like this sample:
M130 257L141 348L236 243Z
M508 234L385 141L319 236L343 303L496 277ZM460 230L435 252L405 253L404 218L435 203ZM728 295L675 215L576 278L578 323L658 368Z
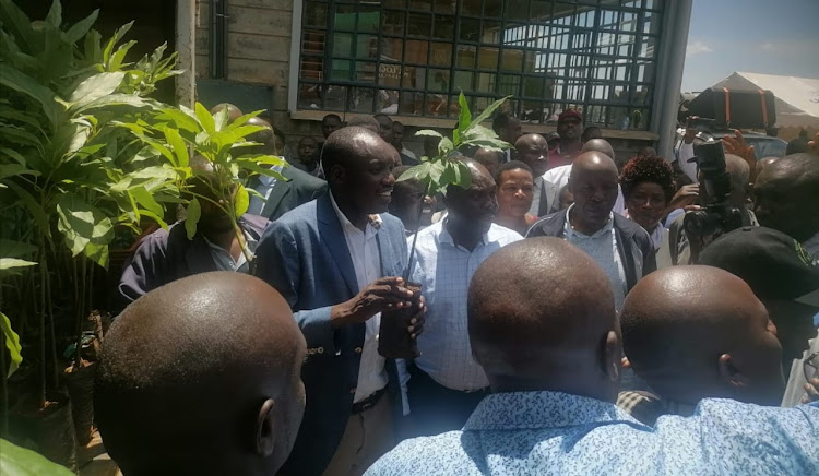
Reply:
M667 1L667 0L666 0ZM524 121L566 108L645 130L662 0L305 0L297 108L455 118L510 95Z

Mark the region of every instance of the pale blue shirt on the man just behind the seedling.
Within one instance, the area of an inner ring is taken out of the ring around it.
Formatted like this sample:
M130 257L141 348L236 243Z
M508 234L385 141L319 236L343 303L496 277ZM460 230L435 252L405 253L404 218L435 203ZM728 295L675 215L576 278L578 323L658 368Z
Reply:
M420 357L415 365L448 389L478 390L489 382L472 358L466 330L470 281L491 253L523 237L492 224L475 249L468 251L453 242L446 223L444 219L418 231L411 281L422 285L427 314L424 333L418 336Z

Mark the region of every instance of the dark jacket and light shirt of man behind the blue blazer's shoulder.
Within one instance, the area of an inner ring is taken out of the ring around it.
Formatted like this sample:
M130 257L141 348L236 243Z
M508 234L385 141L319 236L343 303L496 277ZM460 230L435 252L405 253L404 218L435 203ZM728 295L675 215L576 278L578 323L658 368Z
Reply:
M266 202L259 197L251 197L248 212L276 221L286 212L314 200L327 191L324 180L296 167L284 167L281 174L285 180L266 176L253 179L250 187L264 197Z

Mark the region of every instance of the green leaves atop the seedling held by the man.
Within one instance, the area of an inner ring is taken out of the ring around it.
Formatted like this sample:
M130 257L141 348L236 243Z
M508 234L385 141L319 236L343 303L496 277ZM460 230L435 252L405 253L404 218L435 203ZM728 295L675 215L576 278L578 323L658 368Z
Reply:
M458 160L461 156L460 150L483 147L502 152L512 146L498 139L498 134L491 129L480 126L505 100L507 100L506 97L496 100L473 119L470 105L461 93L459 97L461 115L458 119L458 129L452 131L452 139L428 129L418 131L415 134L417 136L434 136L441 140L438 144L438 155L422 157L422 163L402 174L399 180L418 179L426 187L428 194L446 193L449 186L468 189L472 185L472 174L466 165Z

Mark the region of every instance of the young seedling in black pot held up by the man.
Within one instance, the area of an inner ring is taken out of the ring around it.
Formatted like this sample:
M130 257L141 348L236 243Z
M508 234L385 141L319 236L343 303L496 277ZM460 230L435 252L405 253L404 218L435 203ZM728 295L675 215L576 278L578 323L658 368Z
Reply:
M432 130L420 130L416 136L434 136L440 139L438 143L438 154L432 157L422 157L422 163L406 170L399 177L399 181L416 179L426 190L427 195L446 194L450 186L468 189L472 186L472 172L470 168L458 158L463 154L465 148L488 148L490 151L503 152L512 147L512 144L498 139L491 129L482 126L482 122L489 119L492 112L500 107L507 98L498 99L492 103L486 110L473 119L470 106L463 93L459 96L461 112L458 120L458 128L452 130L452 138L444 138L442 134ZM423 207L418 206L418 219ZM412 359L417 357L418 347L416 341L412 338L407 326L410 320L418 312L420 301L420 284L410 282L414 260L415 245L418 238L418 231L413 234L413 242L410 247L410 259L407 267L404 271L405 286L413 291L413 306L403 309L387 311L381 314L381 328L378 337L378 353L388 358Z

